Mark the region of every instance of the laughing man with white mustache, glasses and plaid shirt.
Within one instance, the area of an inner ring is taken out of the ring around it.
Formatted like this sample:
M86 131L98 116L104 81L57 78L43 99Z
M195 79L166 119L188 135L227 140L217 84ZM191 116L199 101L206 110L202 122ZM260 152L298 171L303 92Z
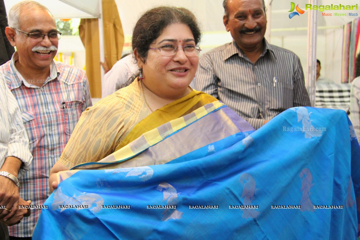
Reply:
M17 51L0 66L0 74L15 96L33 155L30 170L19 178L20 197L42 206L50 195L48 178L81 113L91 106L84 71L54 62L61 33L49 10L22 1L9 11L5 33ZM31 239L40 209L9 227L10 239Z

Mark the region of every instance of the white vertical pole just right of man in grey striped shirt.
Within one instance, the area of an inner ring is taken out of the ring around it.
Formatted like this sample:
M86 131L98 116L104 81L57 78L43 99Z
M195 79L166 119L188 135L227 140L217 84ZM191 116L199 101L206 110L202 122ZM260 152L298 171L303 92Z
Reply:
M318 0L309 0L309 4L318 5ZM315 107L317 12L310 10L307 19L307 70L305 86L312 107Z

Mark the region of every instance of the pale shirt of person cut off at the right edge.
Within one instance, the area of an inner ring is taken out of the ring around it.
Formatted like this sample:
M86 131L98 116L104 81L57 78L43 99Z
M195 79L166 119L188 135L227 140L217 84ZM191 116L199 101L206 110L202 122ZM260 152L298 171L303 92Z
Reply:
M360 144L360 77L355 78L351 83L350 120Z

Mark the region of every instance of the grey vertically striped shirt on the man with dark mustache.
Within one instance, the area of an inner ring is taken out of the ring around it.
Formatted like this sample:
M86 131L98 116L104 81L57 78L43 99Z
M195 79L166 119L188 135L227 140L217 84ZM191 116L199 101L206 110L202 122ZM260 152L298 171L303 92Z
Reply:
M195 89L219 99L255 129L288 108L310 106L298 56L265 39L255 64L234 40L203 54Z

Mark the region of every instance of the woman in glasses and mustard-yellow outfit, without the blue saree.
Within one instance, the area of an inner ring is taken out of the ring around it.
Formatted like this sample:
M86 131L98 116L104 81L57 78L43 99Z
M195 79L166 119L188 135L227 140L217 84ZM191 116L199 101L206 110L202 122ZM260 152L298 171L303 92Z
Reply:
M189 87L198 67L200 37L186 9L162 6L144 13L132 36L139 77L82 114L50 172L50 186L57 172L97 162L142 133L217 101Z

